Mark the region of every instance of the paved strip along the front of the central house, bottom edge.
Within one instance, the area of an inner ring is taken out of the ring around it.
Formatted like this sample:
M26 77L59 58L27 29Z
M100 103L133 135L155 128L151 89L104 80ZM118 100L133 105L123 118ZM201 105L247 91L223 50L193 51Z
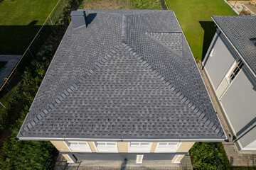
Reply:
M68 164L65 158L59 155L55 165L55 170L192 170L191 159L189 156L181 160L181 164L171 164L170 161L144 161L143 164L135 164L135 161L128 162L111 162L111 161L82 161L75 164Z

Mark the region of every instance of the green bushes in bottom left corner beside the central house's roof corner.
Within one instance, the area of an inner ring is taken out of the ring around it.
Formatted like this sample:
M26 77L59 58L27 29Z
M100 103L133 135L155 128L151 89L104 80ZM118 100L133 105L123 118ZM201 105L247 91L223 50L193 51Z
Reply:
M4 156L0 158L0 169L53 169L54 157L58 150L50 142L15 140L26 113L21 113L11 138L4 142Z

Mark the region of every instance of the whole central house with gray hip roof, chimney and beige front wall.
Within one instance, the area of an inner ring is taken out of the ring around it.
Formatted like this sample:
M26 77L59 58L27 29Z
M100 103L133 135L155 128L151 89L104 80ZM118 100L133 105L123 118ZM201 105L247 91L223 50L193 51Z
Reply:
M17 140L48 140L68 162L137 163L225 141L174 11L71 17Z

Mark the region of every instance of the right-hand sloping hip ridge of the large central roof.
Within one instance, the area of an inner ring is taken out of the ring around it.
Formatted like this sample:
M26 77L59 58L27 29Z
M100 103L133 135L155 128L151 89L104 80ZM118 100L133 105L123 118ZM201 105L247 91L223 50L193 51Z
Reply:
M214 130L214 132L217 133L217 135L221 132L222 128L218 127L218 125L216 125L212 120L210 120L210 118L208 118L208 116L205 113L203 113L203 111L200 111L200 109L198 107L196 107L196 105L192 101L190 101L184 94L182 94L182 92L179 91L178 88L174 84L171 84L171 82L168 79L166 79L166 77L164 77L164 75L162 75L151 64L149 64L149 62L147 62L144 59L144 57L142 57L142 55L140 55L136 50L134 50L134 48L129 46L127 43L122 43L122 45L134 57L136 57L137 60L139 60L139 62L141 62L144 65L144 67L149 69L149 71L152 74L154 74L160 81L162 81L164 83L164 85L168 86L169 89L171 89L171 91L173 91L174 94L178 98L180 98L181 101L183 101L183 103L186 104L186 106L188 106L188 108L191 108L193 113L196 113L196 115L198 115L198 117L201 118L201 120L203 120L206 123L206 125L208 125L210 128L212 128ZM222 134L220 134L220 136L221 137L225 136L225 133L223 132Z

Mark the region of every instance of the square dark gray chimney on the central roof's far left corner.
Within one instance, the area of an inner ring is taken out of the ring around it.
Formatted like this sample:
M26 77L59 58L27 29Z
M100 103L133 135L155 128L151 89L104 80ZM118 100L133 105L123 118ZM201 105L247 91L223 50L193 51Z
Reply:
M87 26L85 11L71 11L70 16L74 29Z

